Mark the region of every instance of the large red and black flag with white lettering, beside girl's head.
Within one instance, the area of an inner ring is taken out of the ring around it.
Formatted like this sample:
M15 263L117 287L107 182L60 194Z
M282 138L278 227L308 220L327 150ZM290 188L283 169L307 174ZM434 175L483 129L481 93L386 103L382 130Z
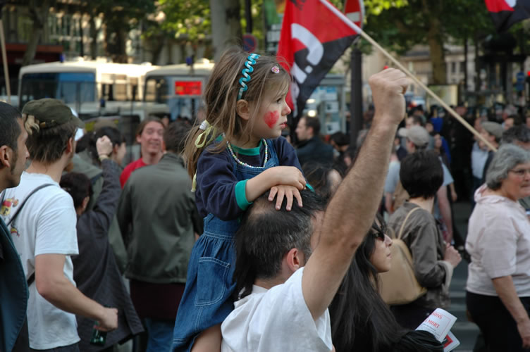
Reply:
M357 32L350 20L327 0L287 0L278 58L293 77L287 102L295 117Z

